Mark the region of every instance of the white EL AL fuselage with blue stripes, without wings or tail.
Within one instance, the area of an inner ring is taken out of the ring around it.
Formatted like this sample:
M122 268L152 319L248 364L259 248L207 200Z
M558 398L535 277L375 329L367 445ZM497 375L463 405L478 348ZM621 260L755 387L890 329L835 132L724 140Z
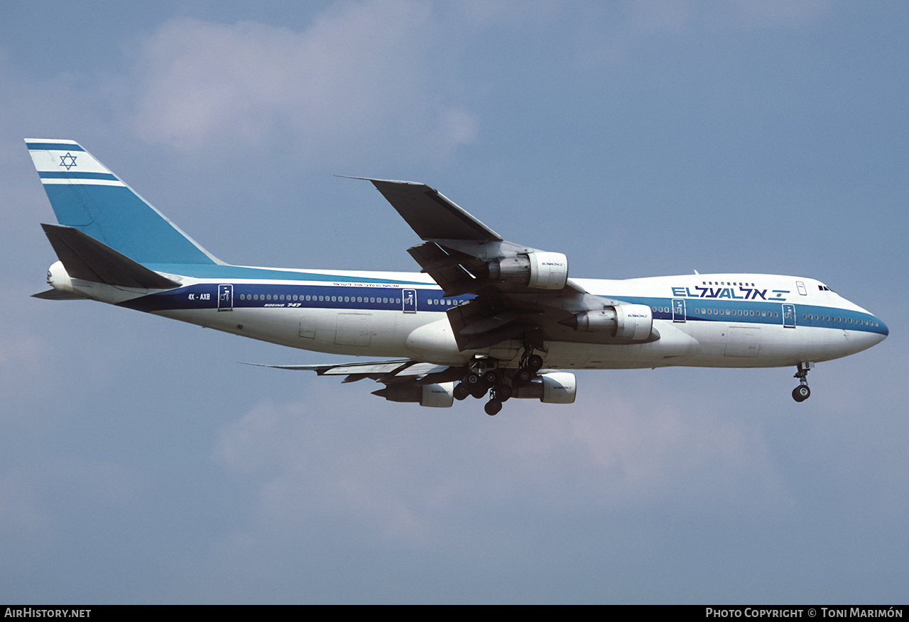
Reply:
M95 300L303 350L443 365L483 354L504 367L516 367L522 352L515 340L458 350L445 311L472 296L446 299L425 274L219 268L224 273L215 278L168 274L183 285L170 291L78 280L69 287ZM255 278L260 275L266 278ZM604 299L649 306L659 339L604 344L578 335L578 341L546 341L547 368L779 367L843 357L887 335L868 311L802 277L694 274L574 282Z

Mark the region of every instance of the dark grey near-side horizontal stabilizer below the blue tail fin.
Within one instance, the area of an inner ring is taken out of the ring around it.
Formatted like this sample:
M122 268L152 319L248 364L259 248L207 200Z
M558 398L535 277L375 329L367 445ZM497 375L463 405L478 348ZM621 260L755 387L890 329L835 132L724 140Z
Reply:
M145 290L169 290L180 286L78 229L56 224L41 226L71 278Z

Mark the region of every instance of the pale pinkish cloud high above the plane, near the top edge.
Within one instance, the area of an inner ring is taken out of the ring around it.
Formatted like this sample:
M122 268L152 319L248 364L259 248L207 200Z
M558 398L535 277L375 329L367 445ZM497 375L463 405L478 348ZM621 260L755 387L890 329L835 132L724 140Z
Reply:
M380 140L449 153L475 122L430 71L437 31L405 0L334 5L305 32L172 21L139 48L136 131L185 150L292 133L322 155Z

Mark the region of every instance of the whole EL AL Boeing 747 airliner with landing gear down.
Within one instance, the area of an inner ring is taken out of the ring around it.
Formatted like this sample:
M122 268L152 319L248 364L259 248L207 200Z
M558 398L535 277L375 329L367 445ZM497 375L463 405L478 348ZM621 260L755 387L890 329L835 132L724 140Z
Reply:
M78 143L26 139L59 224L52 300L92 299L293 348L389 357L274 365L370 379L386 400L574 401L574 373L686 365L795 367L883 341L887 327L824 283L771 274L569 279L563 253L514 242L422 183L368 179L423 240L422 271L228 265ZM365 178L359 178L365 179Z

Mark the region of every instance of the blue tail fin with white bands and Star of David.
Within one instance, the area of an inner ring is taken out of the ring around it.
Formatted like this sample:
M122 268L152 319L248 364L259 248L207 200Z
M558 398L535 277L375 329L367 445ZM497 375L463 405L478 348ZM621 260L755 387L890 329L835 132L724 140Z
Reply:
M75 141L25 145L60 224L139 263L222 263Z

